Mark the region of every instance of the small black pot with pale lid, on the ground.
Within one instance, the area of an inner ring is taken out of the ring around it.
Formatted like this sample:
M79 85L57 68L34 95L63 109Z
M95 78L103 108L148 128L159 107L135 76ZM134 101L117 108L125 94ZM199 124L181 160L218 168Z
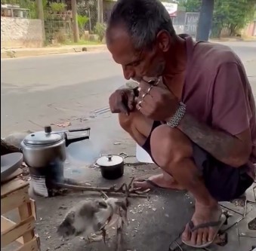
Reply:
M95 165L105 179L119 179L124 175L124 158L120 155L106 155L97 159Z

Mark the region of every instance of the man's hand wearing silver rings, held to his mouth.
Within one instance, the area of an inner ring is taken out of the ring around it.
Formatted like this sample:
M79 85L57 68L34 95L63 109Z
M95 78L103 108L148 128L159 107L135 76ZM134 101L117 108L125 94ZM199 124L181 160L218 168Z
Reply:
M155 121L166 121L177 111L179 100L162 79L156 81L156 85L148 81L140 81L140 95L137 99L137 109L146 117Z

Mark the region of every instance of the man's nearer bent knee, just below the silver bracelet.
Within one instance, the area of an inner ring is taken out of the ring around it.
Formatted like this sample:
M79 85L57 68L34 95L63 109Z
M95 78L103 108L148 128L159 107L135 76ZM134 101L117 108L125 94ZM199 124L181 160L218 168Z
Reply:
M193 146L190 139L180 130L166 124L153 130L150 145L156 164L163 169L175 167L175 162L193 157Z

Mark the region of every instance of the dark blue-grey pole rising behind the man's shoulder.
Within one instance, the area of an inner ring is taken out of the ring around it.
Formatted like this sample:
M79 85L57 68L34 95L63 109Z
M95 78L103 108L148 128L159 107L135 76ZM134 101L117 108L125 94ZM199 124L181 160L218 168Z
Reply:
M202 0L199 23L196 32L196 41L208 41L214 11L214 0Z

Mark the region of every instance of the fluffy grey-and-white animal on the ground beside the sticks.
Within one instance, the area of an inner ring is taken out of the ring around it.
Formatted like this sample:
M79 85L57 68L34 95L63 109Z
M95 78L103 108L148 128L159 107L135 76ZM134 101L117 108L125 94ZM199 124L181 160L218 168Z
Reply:
M128 200L109 197L106 200L82 200L72 207L57 228L61 237L76 237L101 231L106 243L106 228L117 222L127 223Z

